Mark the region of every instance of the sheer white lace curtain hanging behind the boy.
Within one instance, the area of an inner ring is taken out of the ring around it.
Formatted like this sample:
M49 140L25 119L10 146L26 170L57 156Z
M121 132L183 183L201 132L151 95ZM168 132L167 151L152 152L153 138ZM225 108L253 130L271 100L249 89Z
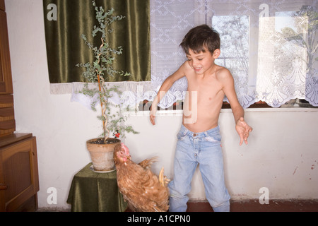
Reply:
M259 100L280 107L295 98L318 106L317 2L151 0L153 89L186 59L179 47L184 35L206 23L220 33L216 64L230 69L242 107ZM182 78L160 107L183 100L186 90Z

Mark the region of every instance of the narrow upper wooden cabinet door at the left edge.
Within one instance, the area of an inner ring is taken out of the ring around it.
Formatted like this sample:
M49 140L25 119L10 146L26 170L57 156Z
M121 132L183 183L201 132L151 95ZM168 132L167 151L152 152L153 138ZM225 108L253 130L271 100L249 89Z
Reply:
M13 93L6 13L0 10L0 94Z

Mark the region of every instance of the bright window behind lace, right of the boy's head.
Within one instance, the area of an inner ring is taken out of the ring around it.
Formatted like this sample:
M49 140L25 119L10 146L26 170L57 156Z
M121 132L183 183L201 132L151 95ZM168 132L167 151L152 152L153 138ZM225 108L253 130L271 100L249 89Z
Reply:
M208 1L213 13L207 21L211 19L221 38L216 64L232 72L243 107L308 106L305 97L318 104L314 101L317 9L311 4L313 1ZM223 107L229 106L225 102Z

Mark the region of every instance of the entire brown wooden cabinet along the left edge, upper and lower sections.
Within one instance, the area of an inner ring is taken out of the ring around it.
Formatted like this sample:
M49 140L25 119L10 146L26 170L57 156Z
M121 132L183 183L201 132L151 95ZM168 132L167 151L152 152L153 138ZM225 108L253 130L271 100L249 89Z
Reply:
M8 28L4 0L0 0L0 212L37 209L36 138L15 131Z

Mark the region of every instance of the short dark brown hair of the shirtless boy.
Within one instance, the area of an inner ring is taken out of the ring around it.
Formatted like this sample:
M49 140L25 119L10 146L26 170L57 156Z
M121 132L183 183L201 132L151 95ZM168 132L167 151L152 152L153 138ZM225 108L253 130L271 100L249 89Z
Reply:
M216 30L208 25L199 25L189 30L180 46L187 55L189 55L189 49L195 54L206 52L208 49L213 54L214 50L220 49L220 36Z

